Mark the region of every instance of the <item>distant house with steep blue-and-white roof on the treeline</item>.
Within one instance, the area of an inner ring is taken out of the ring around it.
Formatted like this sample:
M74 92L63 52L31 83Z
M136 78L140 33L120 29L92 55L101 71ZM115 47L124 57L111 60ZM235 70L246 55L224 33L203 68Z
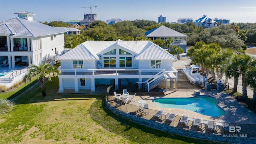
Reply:
M199 18L198 20L195 20L194 23L196 23L198 27L202 26L203 28L210 28L212 26L217 27L218 25L218 22L215 22L211 18L206 17L206 15L204 15L202 18Z

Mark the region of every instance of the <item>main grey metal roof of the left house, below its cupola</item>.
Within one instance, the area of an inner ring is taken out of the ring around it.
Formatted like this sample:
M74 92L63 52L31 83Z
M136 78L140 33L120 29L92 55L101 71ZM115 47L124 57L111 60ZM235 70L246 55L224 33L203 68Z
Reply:
M64 30L60 30L59 28L48 26L33 20L26 20L24 18L12 18L10 20L0 22L0 25L3 24L10 24L13 31L16 32L16 34L13 34L12 37L38 37L66 32ZM0 29L0 34L3 33L4 30Z

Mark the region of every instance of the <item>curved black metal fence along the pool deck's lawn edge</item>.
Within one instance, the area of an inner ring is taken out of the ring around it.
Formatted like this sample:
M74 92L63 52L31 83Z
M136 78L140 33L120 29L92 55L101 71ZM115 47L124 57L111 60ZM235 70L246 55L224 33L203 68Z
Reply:
M110 104L112 107L122 112L125 112L126 114L144 118L146 120L154 121L157 123L166 124L167 126L183 128L185 130L194 130L198 132L213 133L222 136L256 137L256 124L239 124L230 122L220 124L220 121L215 120L214 129L210 129L207 126L206 119L202 119L202 123L198 127L194 125L194 118L189 117L188 122L184 124L180 123L181 116L176 115L172 121L169 121L166 119L170 115L170 113L168 112L164 112L162 116L157 118L156 116L154 116L157 110L153 110L150 108L148 108L148 110L141 110L141 107L132 104L133 102L121 105L122 100L115 100L115 97L111 95L107 96L106 100L108 104Z

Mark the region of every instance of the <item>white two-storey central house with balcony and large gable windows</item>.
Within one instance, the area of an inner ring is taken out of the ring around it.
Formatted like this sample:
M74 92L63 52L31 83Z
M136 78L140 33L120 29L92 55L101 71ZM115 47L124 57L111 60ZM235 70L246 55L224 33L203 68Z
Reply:
M172 54L151 41L86 41L60 60L60 89L91 90L96 85L137 85L152 90L160 83L174 87L177 71L172 67Z

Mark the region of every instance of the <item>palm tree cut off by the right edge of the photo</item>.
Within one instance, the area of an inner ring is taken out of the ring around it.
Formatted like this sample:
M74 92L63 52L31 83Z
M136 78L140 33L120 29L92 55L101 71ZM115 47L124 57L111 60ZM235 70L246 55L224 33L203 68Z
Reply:
M256 67L250 68L246 74L246 83L253 89L253 98L256 99Z

